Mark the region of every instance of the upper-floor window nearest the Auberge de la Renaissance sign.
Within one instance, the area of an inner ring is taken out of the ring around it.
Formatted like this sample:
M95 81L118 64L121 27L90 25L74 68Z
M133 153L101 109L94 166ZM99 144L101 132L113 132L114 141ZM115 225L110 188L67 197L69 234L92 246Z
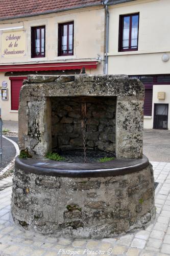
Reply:
M31 57L45 57L45 26L31 28Z

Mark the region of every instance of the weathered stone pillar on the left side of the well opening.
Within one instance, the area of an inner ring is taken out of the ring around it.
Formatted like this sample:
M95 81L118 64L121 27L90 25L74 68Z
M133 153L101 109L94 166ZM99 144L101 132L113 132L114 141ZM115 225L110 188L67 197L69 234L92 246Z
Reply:
M22 101L23 104L23 101ZM51 101L30 98L19 108L19 146L30 154L45 155L52 149Z

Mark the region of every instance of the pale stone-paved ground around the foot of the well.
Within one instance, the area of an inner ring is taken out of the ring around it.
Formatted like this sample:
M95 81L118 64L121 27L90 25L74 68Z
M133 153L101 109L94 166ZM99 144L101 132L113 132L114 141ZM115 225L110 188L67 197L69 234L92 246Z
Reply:
M20 230L9 221L12 188L5 188L0 191L0 255L170 255L170 163L152 164L155 181L159 182L155 191L156 220L145 230L116 239L71 241ZM12 181L12 177L7 179Z

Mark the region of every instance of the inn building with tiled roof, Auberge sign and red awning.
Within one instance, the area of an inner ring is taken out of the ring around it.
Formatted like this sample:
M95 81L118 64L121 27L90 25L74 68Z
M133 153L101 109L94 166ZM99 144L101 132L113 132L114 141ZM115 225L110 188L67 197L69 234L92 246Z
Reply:
M31 2L31 3L30 3ZM3 120L18 120L19 91L28 74L104 69L102 1L8 1L0 5L0 87Z

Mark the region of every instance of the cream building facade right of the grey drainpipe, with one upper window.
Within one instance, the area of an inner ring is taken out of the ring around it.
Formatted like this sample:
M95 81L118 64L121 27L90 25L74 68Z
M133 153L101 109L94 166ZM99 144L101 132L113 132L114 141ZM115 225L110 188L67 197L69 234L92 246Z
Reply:
M170 2L110 0L108 74L145 86L144 128L170 129Z

